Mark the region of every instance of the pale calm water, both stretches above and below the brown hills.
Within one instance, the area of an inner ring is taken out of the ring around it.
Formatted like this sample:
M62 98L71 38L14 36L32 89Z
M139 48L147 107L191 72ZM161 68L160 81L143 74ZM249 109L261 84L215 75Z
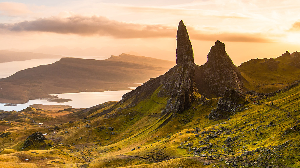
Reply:
M71 56L66 56L71 57ZM77 56L72 56L77 57ZM98 59L103 60L105 57L80 57L86 59ZM32 68L39 65L52 64L60 59L31 59L26 61L13 61L13 62L4 62L0 63L0 78L9 77L17 71ZM141 83L142 84L142 83ZM0 86L1 87L1 86ZM129 89L135 89L131 87ZM69 105L73 108L88 108L92 107L107 101L119 101L122 98L122 95L131 90L123 91L103 91L103 92L80 92L80 93L65 93L65 94L53 94L57 97L64 99L71 99L72 101L64 103L49 102L47 100L29 100L28 103L18 104L17 106L4 106L6 103L0 103L0 109L5 111L20 111L26 109L29 105L32 104L43 104L43 105Z

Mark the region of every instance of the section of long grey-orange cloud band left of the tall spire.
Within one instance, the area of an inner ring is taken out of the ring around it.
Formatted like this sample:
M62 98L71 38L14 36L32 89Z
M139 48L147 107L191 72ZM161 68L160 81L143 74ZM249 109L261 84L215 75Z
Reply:
M164 25L140 25L118 22L103 16L73 15L67 18L48 17L14 24L0 24L10 31L39 31L82 36L101 35L115 38L152 38L173 36L175 28Z

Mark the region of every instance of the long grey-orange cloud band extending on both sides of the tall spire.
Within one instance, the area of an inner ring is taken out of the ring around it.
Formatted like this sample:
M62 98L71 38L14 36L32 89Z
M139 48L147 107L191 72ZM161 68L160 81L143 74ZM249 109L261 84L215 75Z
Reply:
M0 24L0 29L11 32L52 32L81 36L112 36L117 39L174 38L176 27L167 25L142 25L118 22L103 16L72 15L70 17L48 17L14 24ZM252 33L203 33L187 27L191 39L204 41L270 42L261 34Z

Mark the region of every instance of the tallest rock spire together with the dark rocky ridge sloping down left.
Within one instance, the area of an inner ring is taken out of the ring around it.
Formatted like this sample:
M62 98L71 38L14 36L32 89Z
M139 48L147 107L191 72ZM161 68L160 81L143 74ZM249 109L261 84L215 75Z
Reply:
M137 103L146 97L149 98L158 87L161 87L158 97L170 97L162 114L170 111L181 113L185 109L190 108L194 100L193 92L197 91L197 88L194 83L195 67L193 49L186 27L182 21L179 23L176 37L177 65L171 68L166 74L152 78L142 86L137 87L134 91L123 95L121 102L125 102L135 96L133 103Z

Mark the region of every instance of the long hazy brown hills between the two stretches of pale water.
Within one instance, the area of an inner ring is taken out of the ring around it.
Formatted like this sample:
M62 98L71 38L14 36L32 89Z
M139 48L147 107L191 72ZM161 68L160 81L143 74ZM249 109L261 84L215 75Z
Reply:
M16 72L0 80L1 103L25 103L48 94L130 90L164 74L175 62L122 54L106 60L62 58L49 65Z

